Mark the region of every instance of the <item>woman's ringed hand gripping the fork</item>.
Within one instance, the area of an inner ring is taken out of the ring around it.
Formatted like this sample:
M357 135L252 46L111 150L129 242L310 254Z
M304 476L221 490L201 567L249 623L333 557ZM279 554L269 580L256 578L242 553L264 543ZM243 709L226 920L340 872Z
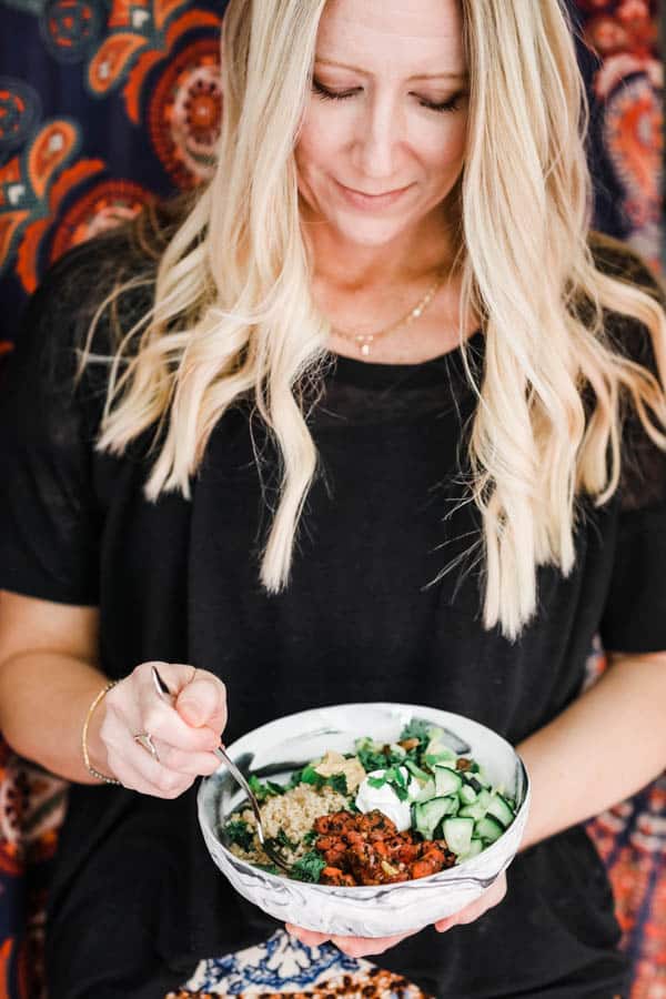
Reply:
M98 718L91 719L89 750L93 765L101 759L99 769L124 787L176 798L196 777L209 776L220 766L212 750L220 745L226 724L226 689L205 669L154 665L174 695L173 704L155 690L153 663L141 663L102 699ZM134 739L147 733L158 758Z

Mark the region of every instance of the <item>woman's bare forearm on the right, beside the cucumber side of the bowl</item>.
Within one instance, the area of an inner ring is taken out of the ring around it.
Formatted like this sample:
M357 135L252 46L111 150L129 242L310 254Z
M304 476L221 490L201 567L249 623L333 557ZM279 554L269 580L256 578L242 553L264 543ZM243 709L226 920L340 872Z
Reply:
M598 815L666 767L666 652L608 654L601 679L516 748L532 807L522 849Z

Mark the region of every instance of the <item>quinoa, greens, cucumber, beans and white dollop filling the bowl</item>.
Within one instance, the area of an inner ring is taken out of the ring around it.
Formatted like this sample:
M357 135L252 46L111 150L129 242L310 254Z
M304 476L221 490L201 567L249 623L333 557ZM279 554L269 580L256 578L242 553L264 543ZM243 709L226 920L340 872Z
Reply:
M445 733L414 719L393 743L369 736L353 753L327 750L286 784L251 786L271 847L290 877L337 887L393 885L430 877L476 857L516 816L516 801L492 786L471 755ZM236 809L222 827L240 859L282 876L264 854L253 811Z

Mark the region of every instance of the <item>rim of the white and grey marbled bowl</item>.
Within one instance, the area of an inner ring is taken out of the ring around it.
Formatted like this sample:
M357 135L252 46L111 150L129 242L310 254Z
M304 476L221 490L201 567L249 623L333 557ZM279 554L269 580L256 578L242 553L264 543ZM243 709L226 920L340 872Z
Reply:
M236 746L245 737L254 735L264 728L269 728L270 726L274 725L276 722L285 722L290 718L296 718L296 717L300 717L310 712L327 710L330 708L343 708L344 709L344 708L353 708L353 707L363 707L363 708L367 708L367 707L374 707L374 708L393 707L393 708L395 708L395 707L398 707L398 708L415 708L416 710L425 709L426 712L427 710L441 712L446 715L450 715L451 717L458 717L458 718L462 718L466 723L472 723L474 726L478 726L480 728L484 729L485 731L491 733L491 735L493 735L495 738L501 739L501 741L503 741L511 749L515 760L521 765L523 780L524 780L524 787L525 787L525 794L523 796L523 800L521 803L518 810L516 811L516 814L514 816L514 820L511 824L511 826L507 826L507 828L504 829L502 835L500 837L497 837L497 839L494 842L492 842L487 847L485 847L475 857L468 857L466 860L463 860L460 864L454 864L453 867L447 867L444 870L440 870L434 875L427 875L425 878L410 878L407 881L395 881L395 882L389 884L389 885L354 885L354 886L321 885L319 881L300 881L300 880L289 878L289 877L282 876L282 875L271 874L271 871L263 870L261 867L258 867L255 864L252 864L250 860L244 860L242 857L236 856L236 854L232 854L232 851L229 849L229 847L224 842L222 842L222 840L218 836L215 829L208 821L204 823L205 793L206 793L206 789L212 784L213 779L219 774L220 769L224 768L224 764L221 763L220 768L218 770L215 770L213 774L211 774L208 777L202 777L201 783L199 785L199 790L196 794L196 813L198 813L199 824L202 828L202 831L204 831L204 838L205 838L205 834L212 836L213 839L215 840L215 842L222 848L222 850L226 855L229 862L233 862L234 865L242 865L242 867L249 874L252 874L253 877L270 878L282 886L284 886L285 882L289 884L290 881L294 881L295 884L301 886L301 888L314 889L316 891L321 891L321 892L325 892L325 894L333 892L333 895L337 898L362 898L363 896L361 895L361 892L366 892L367 895L372 895L374 898L376 898L377 888L381 888L382 892L384 892L384 891L391 891L392 889L404 888L405 885L415 885L415 884L433 885L433 884L435 884L436 879L440 879L444 884L450 879L450 878L445 877L446 875L448 875L450 871L453 871L453 870L455 870L456 872L463 871L463 877L464 877L465 876L464 871L468 870L468 867L466 867L466 865L474 864L474 861L477 860L480 857L487 857L492 852L497 852L497 847L503 842L506 835L513 828L514 824L518 820L518 817L523 818L524 813L529 807L531 797L532 797L532 785L531 785L531 780L529 780L529 774L527 771L527 767L525 766L525 761L523 760L519 753L517 753L515 747L512 746L511 743L504 738L504 736L500 735L500 733L495 731L494 729L488 728L488 726L484 725L482 722L477 722L475 718L470 718L466 715L460 715L454 712L445 712L443 708L433 708L427 705L413 705L413 704L407 704L407 703L403 703L403 702L392 702L392 700L350 702L350 703L343 703L343 704L324 705L324 706L320 706L317 708L305 708L302 712L293 712L290 715L281 715L279 718L273 718L271 722L265 722L263 725L258 725L256 728L250 729L250 731L244 733L244 735L239 736L238 739L234 739L233 743L230 743L229 746L225 747L226 751L229 753L230 750L233 750L233 747ZM433 724L436 724L436 723L433 722ZM232 756L232 758L233 758L233 756ZM518 846L519 846L519 841L518 841ZM516 849L516 851L517 851L517 849ZM507 864L503 865L503 867L501 868L501 870L497 874L497 877L508 866L508 864L511 862L511 860L513 859L514 856L515 856L515 852L512 855L512 857L509 858ZM472 880L472 881L480 880L480 878L475 877L473 874L467 874L466 877L468 880ZM353 894L347 895L347 892L353 892Z

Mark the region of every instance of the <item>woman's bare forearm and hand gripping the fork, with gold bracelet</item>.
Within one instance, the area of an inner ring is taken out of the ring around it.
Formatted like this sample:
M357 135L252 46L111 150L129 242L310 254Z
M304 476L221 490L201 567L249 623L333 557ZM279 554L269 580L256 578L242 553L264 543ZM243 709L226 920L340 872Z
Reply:
M0 591L0 730L22 756L82 784L99 783L83 763L81 731L107 677L98 666L99 614ZM160 664L178 695L175 709L155 694L151 664L128 676L94 708L87 745L92 766L124 787L173 798L212 774L226 722L224 684L204 669ZM148 731L158 757L133 739Z

